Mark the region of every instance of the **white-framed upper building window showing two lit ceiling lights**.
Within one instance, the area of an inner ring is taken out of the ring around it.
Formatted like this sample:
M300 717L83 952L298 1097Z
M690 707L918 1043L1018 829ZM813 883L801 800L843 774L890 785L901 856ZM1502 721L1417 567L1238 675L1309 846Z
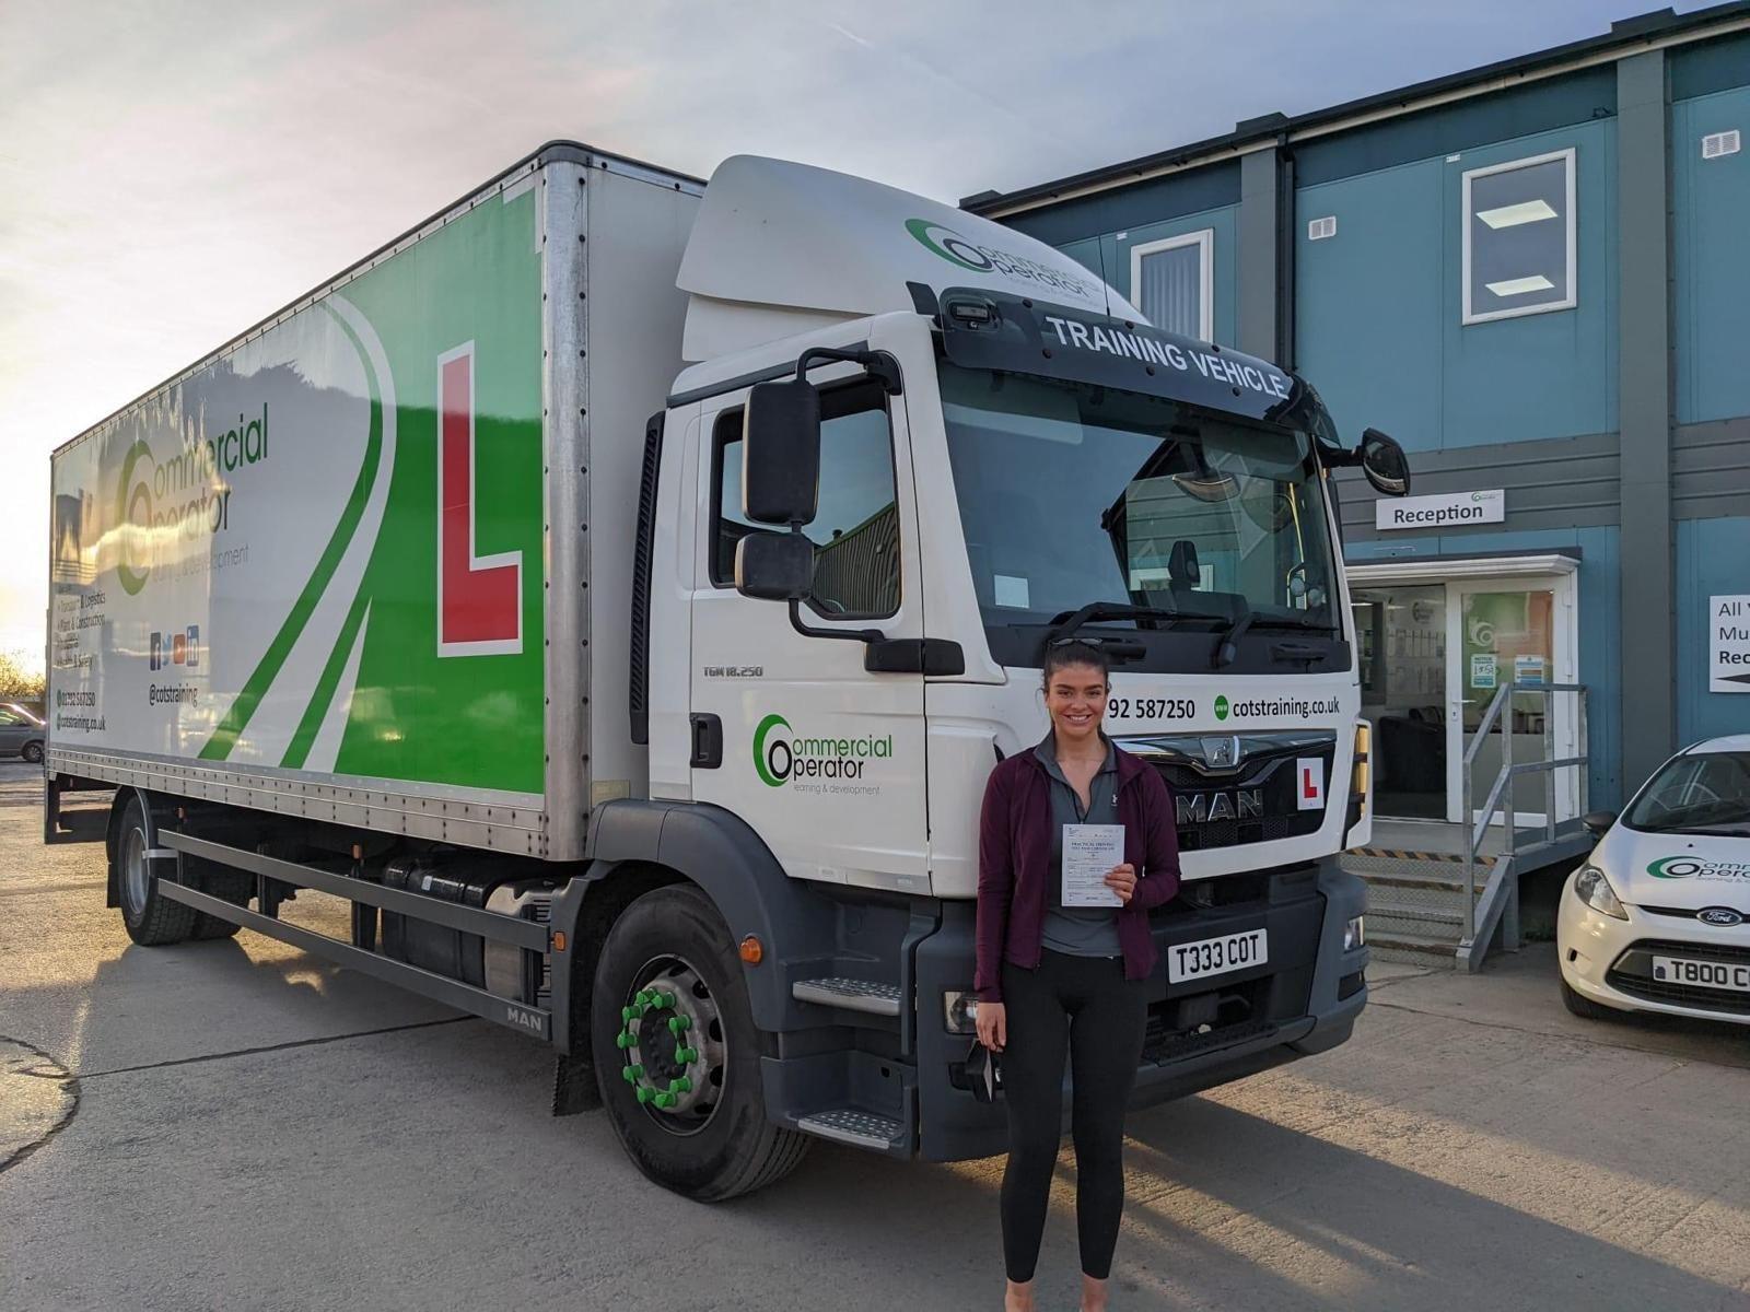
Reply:
M1575 304L1573 150L1465 173L1465 322Z

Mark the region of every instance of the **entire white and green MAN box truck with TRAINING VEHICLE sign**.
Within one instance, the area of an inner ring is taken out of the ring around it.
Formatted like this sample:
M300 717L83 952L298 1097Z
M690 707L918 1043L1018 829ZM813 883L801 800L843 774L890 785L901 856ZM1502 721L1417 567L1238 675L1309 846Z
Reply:
M976 817L1052 640L1176 794L1136 1102L1365 1004L1325 471L1391 483L1368 443L945 205L553 143L54 453L46 838L112 791L136 941L248 927L551 1043L555 1111L698 1198L819 1137L1001 1151ZM346 939L278 917L310 890Z

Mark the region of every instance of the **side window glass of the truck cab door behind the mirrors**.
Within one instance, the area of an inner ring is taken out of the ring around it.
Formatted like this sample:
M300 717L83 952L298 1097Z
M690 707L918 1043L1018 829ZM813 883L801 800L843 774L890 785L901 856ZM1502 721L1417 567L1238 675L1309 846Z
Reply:
M786 532L742 518L742 409L716 423L716 504L710 581L735 586L735 544L747 534ZM856 381L821 392L821 483L814 523L814 593L828 619L886 619L900 611L900 507L892 429L880 383Z

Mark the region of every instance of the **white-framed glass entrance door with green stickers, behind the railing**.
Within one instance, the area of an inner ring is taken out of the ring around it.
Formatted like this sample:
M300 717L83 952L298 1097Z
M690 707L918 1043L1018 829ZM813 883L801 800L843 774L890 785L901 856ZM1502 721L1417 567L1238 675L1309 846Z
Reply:
M1510 682L1577 682L1575 576L1466 579L1446 586L1447 687L1447 819L1463 813L1465 754L1494 696ZM1500 777L1512 735L1516 764L1575 754L1577 707L1573 693L1514 693L1472 764L1472 824ZM1578 812L1578 771L1517 775L1510 784L1514 822L1545 822L1554 796L1556 819ZM1503 799L1507 792L1503 789ZM1500 822L1496 813L1494 822Z

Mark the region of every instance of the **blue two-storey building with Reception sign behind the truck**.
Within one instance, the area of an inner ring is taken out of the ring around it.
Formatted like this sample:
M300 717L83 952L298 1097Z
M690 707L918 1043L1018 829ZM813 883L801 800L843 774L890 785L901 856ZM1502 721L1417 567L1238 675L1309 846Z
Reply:
M1750 684L1708 691L1710 598L1750 593L1746 136L1750 3L1666 9L962 206L1410 451L1419 523L1340 483L1381 815L1460 819L1516 673L1587 684L1596 808L1750 731ZM1578 745L1549 700L1514 731Z

